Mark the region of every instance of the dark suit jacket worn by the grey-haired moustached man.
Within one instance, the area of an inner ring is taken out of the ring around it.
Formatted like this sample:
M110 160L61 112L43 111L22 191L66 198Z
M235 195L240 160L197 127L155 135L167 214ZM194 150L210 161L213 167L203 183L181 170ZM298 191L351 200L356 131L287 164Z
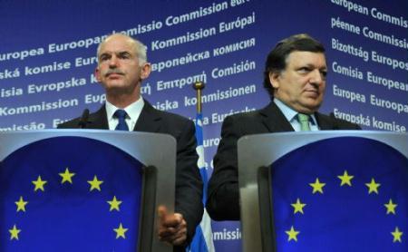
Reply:
M147 101L133 131L170 134L177 141L176 202L175 211L181 213L187 222L188 242L194 236L203 213L202 181L197 167L198 155L194 123L180 115L158 111ZM79 128L80 118L63 122L59 129ZM108 130L105 105L91 113L86 129Z

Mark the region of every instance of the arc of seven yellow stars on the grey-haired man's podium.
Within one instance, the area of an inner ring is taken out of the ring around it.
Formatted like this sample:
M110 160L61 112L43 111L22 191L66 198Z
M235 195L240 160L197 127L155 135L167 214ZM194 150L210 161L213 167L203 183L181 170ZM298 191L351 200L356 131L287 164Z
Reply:
M58 173L59 176L61 176L61 184L68 183L68 184L73 184L73 177L75 176L75 173L71 172L69 168L66 168L63 172ZM87 181L90 184L90 191L92 190L97 190L101 191L101 186L103 181L98 179L96 175L93 176L92 180ZM37 179L33 180L32 183L34 184L34 192L36 191L45 191L45 185L48 183L48 181L44 180L41 178L39 175ZM116 196L113 196L112 200L107 200L106 201L108 205L110 206L109 211L120 211L121 208L121 200L118 200ZM16 205L16 212L25 212L25 208L28 205L28 201L25 201L23 196L20 196L20 199L15 201ZM116 239L118 238L126 238L126 232L128 231L129 228L124 228L123 225L120 223L118 228L112 228L114 233L116 233ZM10 240L18 240L20 232L22 232L21 229L17 227L15 224L13 228L8 230L10 233Z

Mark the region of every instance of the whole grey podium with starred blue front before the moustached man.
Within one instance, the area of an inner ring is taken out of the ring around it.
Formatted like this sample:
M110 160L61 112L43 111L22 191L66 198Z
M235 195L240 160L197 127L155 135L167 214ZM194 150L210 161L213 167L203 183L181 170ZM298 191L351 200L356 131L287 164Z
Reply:
M156 208L174 211L173 137L13 131L0 142L0 251L172 251Z

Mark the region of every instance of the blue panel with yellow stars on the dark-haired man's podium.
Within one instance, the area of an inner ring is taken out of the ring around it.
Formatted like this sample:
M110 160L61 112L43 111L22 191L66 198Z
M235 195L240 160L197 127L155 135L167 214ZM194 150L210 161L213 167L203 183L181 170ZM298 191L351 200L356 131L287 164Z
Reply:
M408 160L392 147L316 141L271 176L277 251L408 251Z

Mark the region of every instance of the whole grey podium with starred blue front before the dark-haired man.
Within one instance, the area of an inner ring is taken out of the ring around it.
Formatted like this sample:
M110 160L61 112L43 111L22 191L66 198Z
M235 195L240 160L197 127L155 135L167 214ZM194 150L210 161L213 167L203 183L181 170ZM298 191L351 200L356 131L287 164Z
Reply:
M408 251L407 159L403 133L242 137L243 251Z

